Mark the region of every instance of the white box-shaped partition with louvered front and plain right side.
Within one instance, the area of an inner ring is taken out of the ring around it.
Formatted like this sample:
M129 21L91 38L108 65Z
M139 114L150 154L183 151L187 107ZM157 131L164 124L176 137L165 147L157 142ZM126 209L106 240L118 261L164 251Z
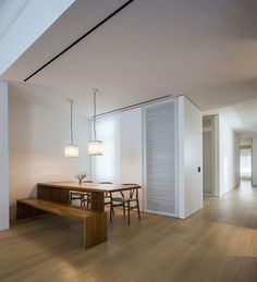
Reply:
M187 218L203 208L201 112L186 97L144 108L144 210Z

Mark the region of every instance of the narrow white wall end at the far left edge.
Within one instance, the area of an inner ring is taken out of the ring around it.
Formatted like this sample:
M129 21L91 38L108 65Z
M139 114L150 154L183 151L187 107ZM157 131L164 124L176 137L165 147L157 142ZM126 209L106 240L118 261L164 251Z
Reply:
M8 84L0 82L0 230L9 229Z

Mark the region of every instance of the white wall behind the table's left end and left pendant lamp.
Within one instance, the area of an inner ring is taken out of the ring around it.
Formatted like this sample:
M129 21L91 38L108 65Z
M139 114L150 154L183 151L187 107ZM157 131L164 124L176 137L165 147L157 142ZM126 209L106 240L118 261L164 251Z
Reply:
M70 106L61 112L54 108L28 101L10 90L9 149L11 217L15 217L15 201L36 195L38 182L74 180L81 170L90 172L87 155L89 120L74 117L74 142L78 158L65 158L64 146L70 143ZM74 113L76 108L74 106Z

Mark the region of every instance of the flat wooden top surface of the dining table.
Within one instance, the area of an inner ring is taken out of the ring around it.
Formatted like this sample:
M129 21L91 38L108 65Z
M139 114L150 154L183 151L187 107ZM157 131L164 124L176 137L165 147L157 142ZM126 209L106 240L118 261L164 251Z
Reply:
M64 188L73 191L85 191L85 192L117 192L117 191L127 191L132 188L140 188L138 184L127 183L127 184L96 184L96 183L77 183L77 182L46 182L38 183L40 187L53 187L53 188Z

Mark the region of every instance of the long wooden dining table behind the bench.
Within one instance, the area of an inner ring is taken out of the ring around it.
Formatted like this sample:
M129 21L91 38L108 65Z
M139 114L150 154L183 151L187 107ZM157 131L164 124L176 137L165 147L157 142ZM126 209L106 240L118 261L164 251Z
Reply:
M72 191L89 192L90 210L105 212L105 193L124 192L134 188L140 188L137 184L95 184L76 182L47 182L37 184L37 197L59 203L70 203L70 193Z

